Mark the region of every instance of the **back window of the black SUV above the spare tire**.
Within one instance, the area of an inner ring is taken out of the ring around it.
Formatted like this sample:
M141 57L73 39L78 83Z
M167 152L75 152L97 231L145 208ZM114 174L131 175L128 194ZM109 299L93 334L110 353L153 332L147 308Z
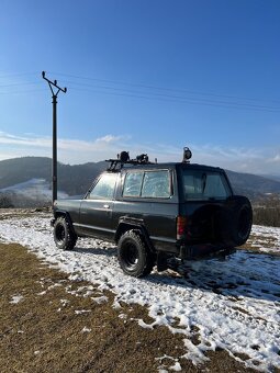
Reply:
M204 170L182 170L182 189L186 201L225 200L232 195L222 172Z

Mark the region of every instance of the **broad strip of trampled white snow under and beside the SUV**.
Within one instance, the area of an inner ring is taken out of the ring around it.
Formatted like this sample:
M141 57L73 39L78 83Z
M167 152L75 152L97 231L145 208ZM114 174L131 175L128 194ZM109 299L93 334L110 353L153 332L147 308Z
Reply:
M255 248L268 251L270 246L280 252L279 228L255 226L251 237ZM112 291L115 307L121 307L121 301L145 305L154 323L138 324L166 325L186 335L186 358L193 363L205 361L205 351L222 348L237 360L238 354L247 354L247 366L266 372L280 369L279 256L237 250L226 260L194 261L180 265L178 273L155 271L138 280L122 272L112 244L80 239L72 251L57 250L49 217L43 214L0 221L0 240L30 248L71 279ZM200 344L191 338L194 334Z

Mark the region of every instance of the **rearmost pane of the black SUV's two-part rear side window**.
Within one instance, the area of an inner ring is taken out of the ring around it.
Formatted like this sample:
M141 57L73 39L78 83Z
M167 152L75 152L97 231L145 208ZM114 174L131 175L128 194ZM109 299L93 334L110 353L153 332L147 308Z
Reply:
M169 172L167 170L145 172L142 196L166 199L170 194Z

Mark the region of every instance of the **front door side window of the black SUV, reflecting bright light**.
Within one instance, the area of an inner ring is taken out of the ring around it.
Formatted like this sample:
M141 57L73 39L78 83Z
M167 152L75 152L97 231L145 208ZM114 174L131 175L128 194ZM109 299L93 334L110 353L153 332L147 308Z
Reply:
M104 173L90 192L90 200L112 200L117 173Z

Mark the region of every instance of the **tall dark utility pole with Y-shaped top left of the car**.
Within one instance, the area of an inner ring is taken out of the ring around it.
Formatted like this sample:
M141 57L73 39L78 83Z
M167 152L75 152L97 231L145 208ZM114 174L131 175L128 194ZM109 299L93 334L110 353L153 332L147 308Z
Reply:
M57 80L49 80L46 78L46 72L42 71L42 77L48 82L53 94L53 204L57 200L57 94L59 91L66 93L67 88L60 88L57 86ZM56 92L54 90L57 90Z

